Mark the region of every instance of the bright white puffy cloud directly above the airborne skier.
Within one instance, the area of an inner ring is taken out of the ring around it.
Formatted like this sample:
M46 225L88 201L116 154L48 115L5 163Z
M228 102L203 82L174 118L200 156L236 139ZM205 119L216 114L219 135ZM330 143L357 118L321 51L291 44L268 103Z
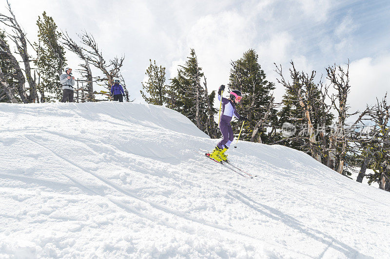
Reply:
M195 49L211 90L228 82L230 61L251 47L255 34L250 24L236 11L223 11L199 17L189 28L181 57L189 56L190 48ZM183 63L174 62L169 70L176 72L177 64Z

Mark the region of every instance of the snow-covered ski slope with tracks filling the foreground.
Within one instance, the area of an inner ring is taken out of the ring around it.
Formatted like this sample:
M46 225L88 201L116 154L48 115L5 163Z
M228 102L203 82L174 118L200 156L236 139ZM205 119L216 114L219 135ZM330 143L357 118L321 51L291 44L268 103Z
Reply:
M390 258L390 193L166 108L0 104L0 258Z

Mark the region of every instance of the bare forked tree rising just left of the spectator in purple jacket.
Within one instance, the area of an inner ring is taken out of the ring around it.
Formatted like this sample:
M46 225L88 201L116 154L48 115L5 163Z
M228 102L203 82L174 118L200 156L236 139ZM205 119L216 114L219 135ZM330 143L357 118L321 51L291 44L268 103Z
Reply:
M107 89L110 89L114 84L113 78L119 75L125 57L114 57L113 59L110 59L107 64L92 34L84 31L82 34L78 34L78 37L85 45L85 47L82 47L82 50L86 52L85 56L88 61L98 68L105 76L104 78L100 78L99 81L106 81L106 87Z

